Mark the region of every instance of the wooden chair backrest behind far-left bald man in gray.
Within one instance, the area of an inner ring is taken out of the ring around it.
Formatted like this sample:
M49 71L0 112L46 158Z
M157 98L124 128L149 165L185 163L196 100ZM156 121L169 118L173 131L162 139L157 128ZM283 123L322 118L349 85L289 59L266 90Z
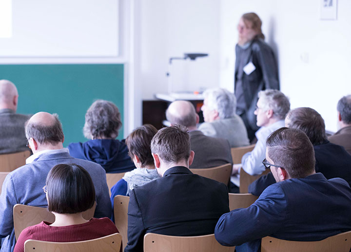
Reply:
M25 165L25 160L31 155L29 150L0 154L0 171L13 171Z

